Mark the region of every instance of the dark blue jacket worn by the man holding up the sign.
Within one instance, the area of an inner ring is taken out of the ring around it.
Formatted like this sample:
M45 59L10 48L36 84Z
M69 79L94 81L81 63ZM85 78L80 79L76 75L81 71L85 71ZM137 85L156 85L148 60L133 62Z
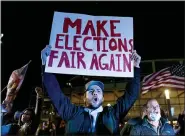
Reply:
M75 106L66 97L56 77L51 73L44 73L44 85L58 114L67 122L66 134L91 134L92 117L85 107ZM119 122L126 116L139 96L140 69L134 69L134 78L126 86L124 95L118 98L116 104L104 107L97 116L96 135L119 135Z

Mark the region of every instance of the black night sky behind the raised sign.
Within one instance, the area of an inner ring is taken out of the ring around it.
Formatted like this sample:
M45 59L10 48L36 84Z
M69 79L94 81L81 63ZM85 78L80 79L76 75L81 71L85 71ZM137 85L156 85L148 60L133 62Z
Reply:
M2 2L1 87L13 70L32 60L15 101L19 109L41 85L40 51L49 43L54 11L133 17L134 46L142 60L184 58L184 2ZM62 76L61 83L70 77Z

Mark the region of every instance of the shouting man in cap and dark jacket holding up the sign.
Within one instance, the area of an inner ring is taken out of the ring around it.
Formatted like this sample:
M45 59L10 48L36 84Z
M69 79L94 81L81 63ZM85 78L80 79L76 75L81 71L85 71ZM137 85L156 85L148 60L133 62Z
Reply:
M41 52L43 66L51 53L51 46ZM75 106L61 91L59 83L52 73L44 73L44 85L60 117L66 122L66 134L119 135L120 117L127 115L139 96L141 57L133 51L134 77L128 82L124 95L118 98L114 106L103 108L104 84L90 81L85 85L85 107ZM55 93L53 93L55 92Z

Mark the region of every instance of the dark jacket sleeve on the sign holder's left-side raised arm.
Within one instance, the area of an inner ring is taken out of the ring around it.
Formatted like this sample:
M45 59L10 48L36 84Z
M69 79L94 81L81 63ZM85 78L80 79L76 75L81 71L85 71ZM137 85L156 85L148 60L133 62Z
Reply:
M44 86L51 98L58 114L65 121L70 120L82 110L71 103L70 99L61 91L56 77L51 73L44 73Z

